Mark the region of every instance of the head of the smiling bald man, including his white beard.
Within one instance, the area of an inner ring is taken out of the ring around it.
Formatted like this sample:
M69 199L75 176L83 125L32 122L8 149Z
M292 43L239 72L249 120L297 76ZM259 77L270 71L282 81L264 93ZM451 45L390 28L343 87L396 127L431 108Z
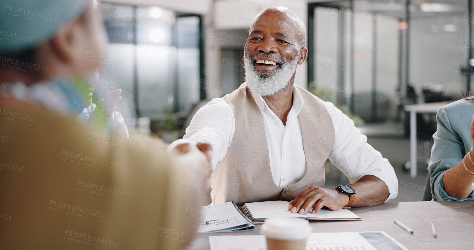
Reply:
M273 6L257 14L244 47L245 80L252 93L273 95L291 88L308 49L306 29L291 10Z

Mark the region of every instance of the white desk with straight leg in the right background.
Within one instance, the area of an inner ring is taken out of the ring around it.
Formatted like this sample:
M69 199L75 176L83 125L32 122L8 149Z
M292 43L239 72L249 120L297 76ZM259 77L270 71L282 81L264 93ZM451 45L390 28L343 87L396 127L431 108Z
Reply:
M438 109L451 102L430 102L405 105L405 111L410 112L410 176L415 178L417 175L417 139L416 139L416 114L417 113L435 113Z

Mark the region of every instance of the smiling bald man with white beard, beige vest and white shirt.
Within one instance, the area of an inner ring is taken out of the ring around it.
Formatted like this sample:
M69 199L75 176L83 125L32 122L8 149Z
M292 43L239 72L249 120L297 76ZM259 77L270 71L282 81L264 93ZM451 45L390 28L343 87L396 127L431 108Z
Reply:
M397 196L393 167L354 122L293 84L308 54L305 30L287 8L261 11L245 44L246 82L202 107L184 139L170 145L212 145L214 204L287 200L292 213L311 207L317 213L323 206L369 206ZM349 185L322 187L328 159Z

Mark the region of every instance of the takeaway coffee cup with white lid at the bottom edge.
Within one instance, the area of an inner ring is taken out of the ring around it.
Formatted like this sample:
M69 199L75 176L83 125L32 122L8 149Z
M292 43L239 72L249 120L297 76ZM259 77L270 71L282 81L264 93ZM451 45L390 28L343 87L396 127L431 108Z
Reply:
M302 218L268 218L260 232L265 235L267 250L305 250L312 231L310 222Z

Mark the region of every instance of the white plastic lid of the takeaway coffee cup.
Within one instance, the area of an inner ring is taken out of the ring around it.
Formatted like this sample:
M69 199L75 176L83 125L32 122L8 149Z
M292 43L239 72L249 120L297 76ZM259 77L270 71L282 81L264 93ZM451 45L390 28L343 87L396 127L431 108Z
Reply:
M267 218L260 233L279 240L300 240L313 231L310 222L302 218Z

